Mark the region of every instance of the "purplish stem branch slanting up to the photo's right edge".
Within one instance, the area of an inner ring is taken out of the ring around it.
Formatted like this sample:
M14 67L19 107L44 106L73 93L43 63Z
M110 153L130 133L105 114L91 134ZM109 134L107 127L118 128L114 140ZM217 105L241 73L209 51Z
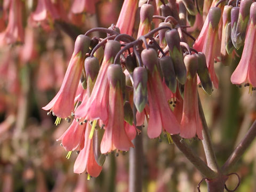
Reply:
M223 173L228 173L235 163L241 158L245 150L251 145L252 141L256 137L256 120L253 122L249 131L244 136L243 140L239 143L233 153L229 156L225 164L221 167Z

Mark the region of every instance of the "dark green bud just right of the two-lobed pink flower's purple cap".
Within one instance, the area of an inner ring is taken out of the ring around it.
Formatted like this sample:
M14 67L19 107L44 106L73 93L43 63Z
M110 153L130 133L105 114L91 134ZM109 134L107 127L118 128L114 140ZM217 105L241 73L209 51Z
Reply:
M159 59L159 63L165 80L165 84L173 93L175 93L177 89L177 81L171 57L162 57Z

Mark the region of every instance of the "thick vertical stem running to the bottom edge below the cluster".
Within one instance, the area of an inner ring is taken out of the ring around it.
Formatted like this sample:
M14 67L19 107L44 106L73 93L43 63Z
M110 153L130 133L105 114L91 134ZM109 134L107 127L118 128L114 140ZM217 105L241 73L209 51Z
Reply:
M129 192L142 191L143 146L142 134L133 140L134 148L129 151Z

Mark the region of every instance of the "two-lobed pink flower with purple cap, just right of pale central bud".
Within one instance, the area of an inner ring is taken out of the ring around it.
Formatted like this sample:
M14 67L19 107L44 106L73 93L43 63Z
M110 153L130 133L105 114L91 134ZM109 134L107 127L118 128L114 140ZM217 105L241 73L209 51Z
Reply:
M149 101L149 122L148 137L156 138L164 131L171 134L180 132L180 125L172 113L167 102L162 80L159 75L157 65L157 53L154 49L143 50L141 52L143 64L148 68L148 101Z

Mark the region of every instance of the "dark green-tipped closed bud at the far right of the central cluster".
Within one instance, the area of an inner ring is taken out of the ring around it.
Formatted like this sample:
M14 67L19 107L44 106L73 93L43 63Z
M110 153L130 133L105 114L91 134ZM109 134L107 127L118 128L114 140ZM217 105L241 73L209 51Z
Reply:
M198 68L197 68L197 74L200 78L203 90L211 95L212 94L212 81L209 75L209 71L206 65L206 59L205 55L202 52L199 52L197 54L198 57Z

